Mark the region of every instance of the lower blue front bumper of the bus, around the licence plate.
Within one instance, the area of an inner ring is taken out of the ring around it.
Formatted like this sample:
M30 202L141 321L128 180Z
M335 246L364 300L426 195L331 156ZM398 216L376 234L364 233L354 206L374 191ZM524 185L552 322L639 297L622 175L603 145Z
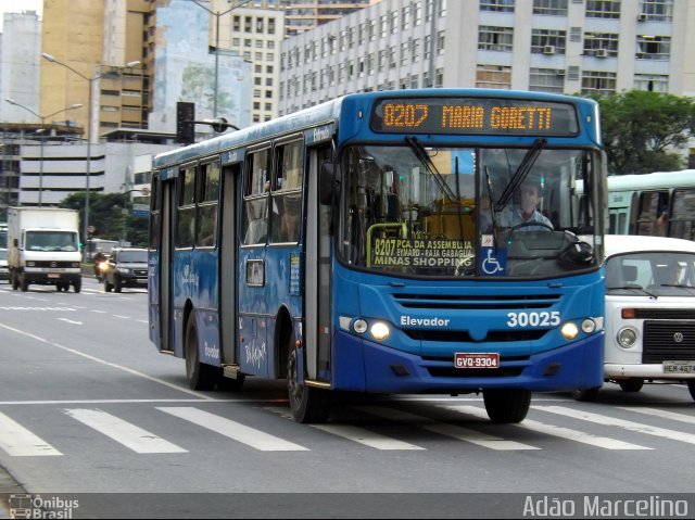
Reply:
M494 343L488 352L501 352ZM458 369L451 359L424 359L345 332L333 342L332 388L379 393L469 393L481 389L571 391L603 383L604 335L594 334L525 359L505 360L500 368ZM341 369L341 367L350 367Z

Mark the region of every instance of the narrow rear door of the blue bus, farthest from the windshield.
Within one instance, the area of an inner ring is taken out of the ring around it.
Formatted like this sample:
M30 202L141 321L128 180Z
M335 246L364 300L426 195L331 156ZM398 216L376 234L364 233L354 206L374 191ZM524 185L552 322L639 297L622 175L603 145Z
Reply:
M173 212L176 208L176 182L163 181L160 185L162 190L160 232L160 350L174 352L173 331L173 305L172 305L172 262L174 246Z

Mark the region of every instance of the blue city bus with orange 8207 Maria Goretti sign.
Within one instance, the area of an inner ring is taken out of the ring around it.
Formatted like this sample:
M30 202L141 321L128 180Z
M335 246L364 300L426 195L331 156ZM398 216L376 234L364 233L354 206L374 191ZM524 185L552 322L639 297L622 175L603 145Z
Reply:
M287 379L300 422L336 391L482 392L521 421L532 392L603 381L605 169L595 102L483 89L349 94L162 153L150 339L192 389Z

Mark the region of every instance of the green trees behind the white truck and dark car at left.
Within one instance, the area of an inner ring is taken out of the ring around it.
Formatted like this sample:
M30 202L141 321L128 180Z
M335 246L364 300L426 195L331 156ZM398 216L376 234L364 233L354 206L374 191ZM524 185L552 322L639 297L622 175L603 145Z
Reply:
M67 195L59 204L79 211L80 233L85 217L85 192L76 192ZM127 213L123 210L126 208ZM89 192L89 225L97 230L94 237L104 240L124 239L132 245L147 246L148 244L148 217L132 215L132 205L126 193L94 193Z

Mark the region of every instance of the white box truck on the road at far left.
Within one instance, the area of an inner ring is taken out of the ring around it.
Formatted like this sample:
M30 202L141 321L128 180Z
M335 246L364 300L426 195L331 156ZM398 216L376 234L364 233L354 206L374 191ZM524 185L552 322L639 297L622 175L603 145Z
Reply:
M81 289L79 215L60 207L8 208L8 266L12 289L30 283Z

